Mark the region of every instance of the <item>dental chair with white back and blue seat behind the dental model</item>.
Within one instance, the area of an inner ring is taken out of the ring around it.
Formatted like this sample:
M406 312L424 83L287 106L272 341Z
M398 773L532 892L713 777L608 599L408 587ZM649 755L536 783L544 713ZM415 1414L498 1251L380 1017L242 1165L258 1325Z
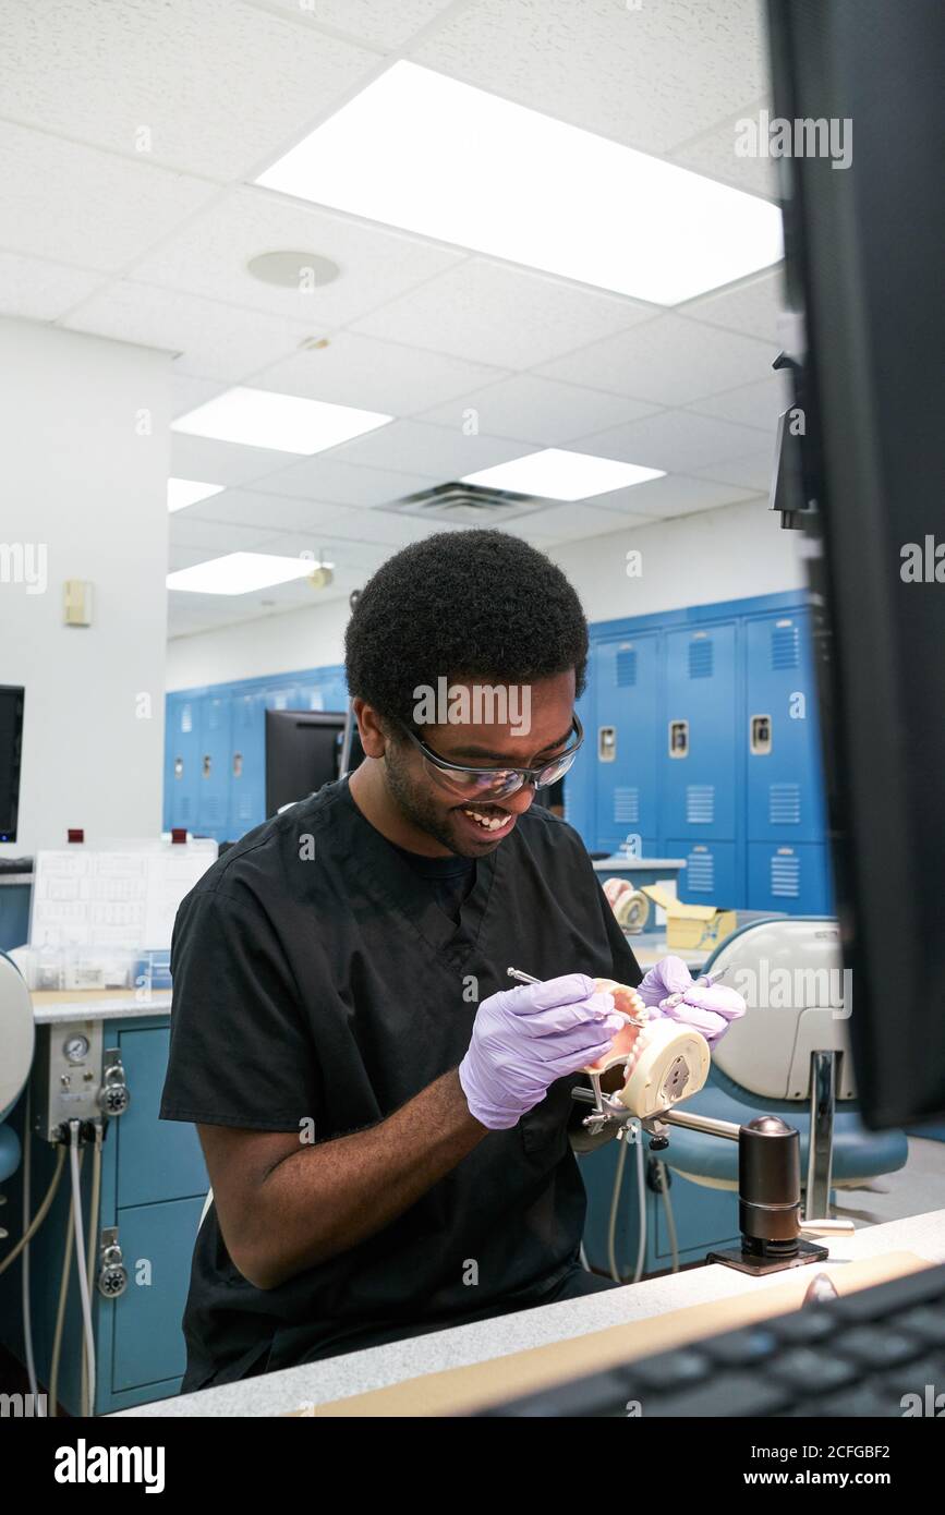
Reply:
M866 1130L857 1115L853 994L834 920L753 921L716 948L704 971L724 974L748 1012L713 1050L706 1086L685 1110L739 1126L772 1112L795 1126L804 1218L830 1215L833 1189L862 1188L906 1165L906 1133ZM736 1142L674 1127L662 1156L692 1183L738 1188Z

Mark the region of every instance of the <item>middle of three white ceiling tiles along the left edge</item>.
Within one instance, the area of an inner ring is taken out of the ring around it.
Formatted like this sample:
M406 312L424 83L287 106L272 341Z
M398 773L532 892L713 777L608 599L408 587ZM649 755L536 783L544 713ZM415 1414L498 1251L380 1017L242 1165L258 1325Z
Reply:
M0 245L8 251L118 270L217 192L141 161L0 126Z

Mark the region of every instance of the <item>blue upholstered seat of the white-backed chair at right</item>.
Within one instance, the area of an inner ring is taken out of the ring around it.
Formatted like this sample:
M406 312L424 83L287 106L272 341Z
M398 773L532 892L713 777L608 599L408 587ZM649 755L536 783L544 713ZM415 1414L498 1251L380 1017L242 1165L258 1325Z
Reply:
M718 1121L734 1121L744 1126L756 1115L780 1115L788 1126L797 1127L801 1136L801 1183L807 1176L807 1144L810 1114L798 1100L766 1100L750 1094L713 1067L704 1089L694 1094L681 1106L692 1115L710 1115ZM738 1186L738 1142L719 1141L703 1132L669 1127L669 1147L662 1154L666 1167L685 1174L695 1183ZM853 1186L881 1173L895 1173L906 1167L909 1141L904 1132L871 1132L857 1115L856 1101L847 1100L836 1107L833 1129L833 1179L834 1188Z

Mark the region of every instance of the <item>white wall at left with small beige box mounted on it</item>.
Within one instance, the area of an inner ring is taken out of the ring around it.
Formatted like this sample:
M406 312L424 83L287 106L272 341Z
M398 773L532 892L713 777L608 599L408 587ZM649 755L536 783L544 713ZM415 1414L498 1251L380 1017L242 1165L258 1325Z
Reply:
M161 829L168 462L165 353L0 321L0 683L26 685L2 854ZM44 592L11 547L45 547ZM94 583L88 629L62 624L65 579Z

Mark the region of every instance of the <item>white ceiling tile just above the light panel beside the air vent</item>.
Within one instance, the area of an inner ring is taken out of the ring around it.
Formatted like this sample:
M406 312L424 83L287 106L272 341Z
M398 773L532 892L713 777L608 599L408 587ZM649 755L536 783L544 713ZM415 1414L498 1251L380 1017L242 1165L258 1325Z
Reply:
M491 436L510 436L539 447L560 447L575 436L650 415L654 408L625 395L582 389L579 385L513 374L486 389L426 411L418 420L463 426L472 420Z

